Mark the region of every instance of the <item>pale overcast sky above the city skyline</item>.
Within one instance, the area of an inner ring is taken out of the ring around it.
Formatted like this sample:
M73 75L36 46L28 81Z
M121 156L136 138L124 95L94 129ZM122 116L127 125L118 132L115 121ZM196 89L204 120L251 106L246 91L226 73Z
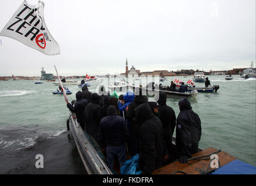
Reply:
M0 1L0 31L23 1ZM36 0L27 0L31 5ZM61 54L0 36L0 76L255 67L255 0L43 0Z

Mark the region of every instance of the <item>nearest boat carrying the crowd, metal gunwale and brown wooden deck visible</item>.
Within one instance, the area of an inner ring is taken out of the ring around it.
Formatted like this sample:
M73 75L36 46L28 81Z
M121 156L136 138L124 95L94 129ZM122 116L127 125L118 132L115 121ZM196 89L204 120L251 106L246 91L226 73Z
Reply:
M120 173L118 163L116 163L116 166L114 166L113 169L108 167L107 160L104 153L101 151L99 144L97 144L96 140L88 135L86 131L83 131L76 119L75 113L71 112L69 119L66 120L66 127L67 130L70 131L68 137L71 137L72 135L75 141L76 148L78 149L79 156L87 174L111 175ZM175 147L176 138L172 137L171 142ZM210 166L213 160L212 155L218 157L216 163L219 163L219 166ZM127 152L127 159L129 160L130 158L129 152ZM188 163L180 163L178 160L174 160L173 162L154 170L152 174L231 174L234 172L232 167L230 167L230 169L225 169L225 173L223 173L222 167L229 166L229 164L233 165L237 161L240 160L221 149L198 148L198 151L188 159ZM241 164L241 161L239 163ZM240 167L241 169L236 169L236 171L241 170L240 173L244 173L243 171L246 169L247 173L250 171L255 174L255 166L251 166L247 163L243 164L243 168Z

